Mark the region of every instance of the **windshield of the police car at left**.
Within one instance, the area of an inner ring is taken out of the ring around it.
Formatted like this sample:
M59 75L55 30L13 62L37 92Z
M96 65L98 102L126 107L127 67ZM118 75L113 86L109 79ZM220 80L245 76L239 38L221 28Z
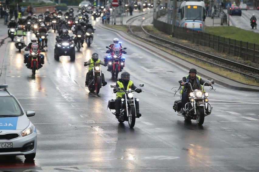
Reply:
M0 116L21 116L22 109L12 96L0 97Z

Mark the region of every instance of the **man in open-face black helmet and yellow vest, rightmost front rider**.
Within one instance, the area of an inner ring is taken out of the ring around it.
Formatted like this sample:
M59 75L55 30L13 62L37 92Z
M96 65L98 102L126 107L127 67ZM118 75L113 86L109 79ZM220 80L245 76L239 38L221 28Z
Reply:
M183 110L183 115L185 115L185 111L184 111L184 108L185 108L185 104L187 103L187 99L188 99L188 95L190 94L190 92L193 90L202 90L202 85L206 82L204 80L202 80L202 78L197 74L197 70L195 68L191 68L190 71L189 71L189 75L185 76L182 78L183 82L180 83L181 86L183 86L181 88L181 103L182 103L182 110ZM190 86L189 85L185 85L184 86L184 83L185 82L189 82L191 83L192 85L192 89L189 88ZM209 85L211 85L212 83L209 83Z

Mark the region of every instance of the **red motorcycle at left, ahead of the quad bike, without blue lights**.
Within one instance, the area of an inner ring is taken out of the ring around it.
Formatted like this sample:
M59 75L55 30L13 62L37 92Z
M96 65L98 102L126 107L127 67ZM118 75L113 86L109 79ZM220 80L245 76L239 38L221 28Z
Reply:
M45 56L40 54L40 51L45 52L44 49L40 49L37 43L32 43L31 49L25 48L25 51L30 51L23 56L24 63L28 69L32 69L33 75L35 75L36 70L40 69L44 64Z

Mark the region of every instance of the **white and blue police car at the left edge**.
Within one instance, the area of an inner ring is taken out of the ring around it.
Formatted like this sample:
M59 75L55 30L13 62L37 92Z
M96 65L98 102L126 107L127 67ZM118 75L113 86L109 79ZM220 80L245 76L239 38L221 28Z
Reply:
M34 159L37 131L28 117L35 112L25 112L7 88L8 85L0 85L0 156L24 155Z

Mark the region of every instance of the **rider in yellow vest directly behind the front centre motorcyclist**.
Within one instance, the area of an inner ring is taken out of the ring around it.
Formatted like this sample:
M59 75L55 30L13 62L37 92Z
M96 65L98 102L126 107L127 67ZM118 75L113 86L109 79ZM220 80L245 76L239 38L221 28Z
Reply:
M86 78L85 78L85 86L88 87L89 85L89 77L91 74L93 74L93 66L94 64L91 64L91 63L100 63L104 66L107 66L107 63L104 63L103 61L101 61L99 58L99 55L97 53L93 53L92 54L92 58L90 60L88 60L87 62L85 62L85 65L84 66L88 66L88 72L86 73ZM90 65L91 64L91 65ZM99 65L100 66L100 65ZM105 81L105 78L104 78L104 74L102 73L102 86L105 86L107 84L107 82Z

